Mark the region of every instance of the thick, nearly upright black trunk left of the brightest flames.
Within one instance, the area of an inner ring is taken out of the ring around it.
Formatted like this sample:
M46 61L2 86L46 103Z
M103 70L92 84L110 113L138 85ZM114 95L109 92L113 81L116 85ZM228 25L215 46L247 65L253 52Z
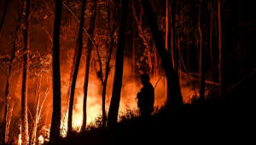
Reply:
M50 125L49 142L60 137L61 127L61 73L60 73L60 30L61 30L62 0L55 0L55 24L52 49L52 83L53 83L53 110Z

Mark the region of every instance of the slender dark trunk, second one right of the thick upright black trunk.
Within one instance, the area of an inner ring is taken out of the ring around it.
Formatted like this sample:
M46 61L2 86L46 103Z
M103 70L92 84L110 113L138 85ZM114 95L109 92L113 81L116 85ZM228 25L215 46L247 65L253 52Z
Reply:
M94 8L93 13L90 18L90 28L89 28L89 35L91 38L94 37L94 28L96 22L96 0L94 1ZM83 125L82 130L86 128L86 117L87 117L87 110L86 110L86 103L87 103L87 91L88 91L88 84L89 84L89 73L90 73L90 55L91 55L92 44L91 41L88 41L88 49L86 55L86 63L85 63L85 74L84 74L84 106L83 106Z

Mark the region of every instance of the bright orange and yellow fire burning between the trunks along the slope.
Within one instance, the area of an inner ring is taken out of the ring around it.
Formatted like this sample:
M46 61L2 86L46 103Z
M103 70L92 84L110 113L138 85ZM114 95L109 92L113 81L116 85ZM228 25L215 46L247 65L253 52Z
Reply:
M123 86L121 92L121 100L119 106L119 121L130 120L130 119L137 119L138 111L137 111L137 92L142 88L142 84L140 80L136 77L131 75L131 67L127 64L128 62L125 61L125 72L123 77ZM80 70L83 70L81 68ZM68 81L69 75L67 73L61 74L61 109L62 109L62 116L61 116L61 137L67 137L67 116L68 116L68 102L69 99L67 96L68 94ZM132 79L131 79L132 78ZM18 80L20 79L17 78ZM197 80L196 78L190 78L186 74L180 73L180 85L183 94L183 102L190 103L193 101L193 98L198 96L198 89L197 84L195 83ZM21 80L19 80L21 81ZM160 107L166 102L166 80L164 75L151 75L150 82L154 86L154 107L155 110L159 110ZM42 84L42 88L44 88L45 82ZM48 82L48 84L50 84ZM31 85L32 86L32 85ZM112 94L112 86L113 86L113 72L110 72L109 81L107 85L107 96L106 96L106 110L108 114L108 107L109 102L111 99ZM20 86L17 86L17 89ZM74 106L73 106L73 131L77 134L81 131L81 125L83 122L83 102L84 102L84 73L83 71L79 71L78 81L76 84L75 90L75 99L74 99ZM48 88L51 88L49 85ZM45 94L46 90L41 90L41 94ZM51 91L51 90L47 90ZM32 96L32 95L31 95ZM42 95L41 95L42 96ZM17 97L19 98L19 97ZM37 126L36 135L31 141L31 144L44 144L45 142L49 142L49 128L50 128L50 114L51 114L51 93L45 99L44 106L42 107L42 115ZM44 98L41 98L41 100ZM33 99L31 99L33 100ZM20 101L20 100L19 100ZM41 101L42 102L42 101ZM20 102L16 102L20 104ZM30 102L29 104L29 132L30 136L32 136L32 128L34 123L34 107L33 103ZM19 107L19 105L18 105ZM16 108L15 108L16 109ZM19 110L19 109L18 109ZM156 113L157 111L154 111ZM20 136L20 113L15 113L14 119L12 120L13 123L10 127L9 134L9 142L11 144L21 144L21 136ZM88 89L88 98L87 98L87 130L95 130L96 128L101 128L102 126L102 86L94 74L90 74L89 80L89 89Z

